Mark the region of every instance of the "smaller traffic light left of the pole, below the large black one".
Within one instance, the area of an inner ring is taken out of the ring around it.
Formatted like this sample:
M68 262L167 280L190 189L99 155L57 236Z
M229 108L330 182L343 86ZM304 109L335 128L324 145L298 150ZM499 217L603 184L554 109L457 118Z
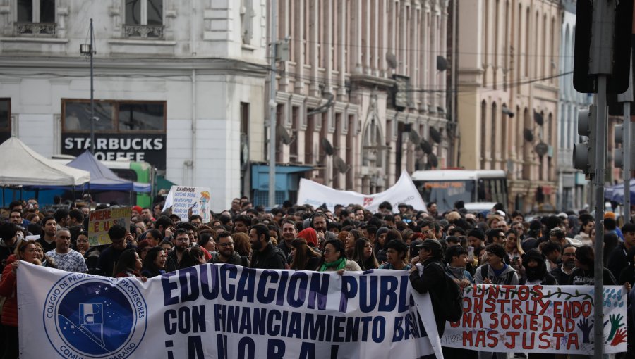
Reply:
M598 106L588 106L588 110L578 110L578 134L588 137L581 144L574 144L574 168L587 175L595 171L595 121L598 118Z

